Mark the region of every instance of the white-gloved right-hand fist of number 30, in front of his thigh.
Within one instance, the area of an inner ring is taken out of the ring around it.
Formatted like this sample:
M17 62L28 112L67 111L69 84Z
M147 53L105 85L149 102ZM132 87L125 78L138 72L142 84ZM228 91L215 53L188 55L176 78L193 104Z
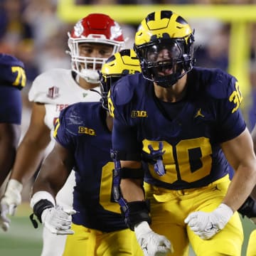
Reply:
M213 212L197 211L190 213L184 221L196 235L203 240L207 240L222 230L232 215L233 210L225 203L220 203L220 206Z

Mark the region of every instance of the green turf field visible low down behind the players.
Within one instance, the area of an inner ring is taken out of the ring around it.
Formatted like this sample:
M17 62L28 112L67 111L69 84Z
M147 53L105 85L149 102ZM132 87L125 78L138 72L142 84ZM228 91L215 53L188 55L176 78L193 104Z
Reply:
M40 256L42 228L41 225L37 229L33 228L28 218L30 214L31 210L28 204L21 205L17 210L16 216L11 218L10 230L7 233L0 230L1 256ZM242 223L245 231L245 242L241 256L245 256L247 241L255 225L246 218L242 219ZM193 252L191 252L192 255Z

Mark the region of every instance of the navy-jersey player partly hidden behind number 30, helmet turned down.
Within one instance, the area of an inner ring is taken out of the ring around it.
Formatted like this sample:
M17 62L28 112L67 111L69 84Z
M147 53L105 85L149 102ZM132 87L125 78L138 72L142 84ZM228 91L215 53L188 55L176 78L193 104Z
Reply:
M133 233L112 198L112 117L107 111L107 92L110 82L140 71L133 50L115 53L102 67L102 103L80 102L60 112L55 124L55 146L33 185L31 207L51 233L69 235L63 255L132 253ZM73 167L73 209L59 208L55 196Z

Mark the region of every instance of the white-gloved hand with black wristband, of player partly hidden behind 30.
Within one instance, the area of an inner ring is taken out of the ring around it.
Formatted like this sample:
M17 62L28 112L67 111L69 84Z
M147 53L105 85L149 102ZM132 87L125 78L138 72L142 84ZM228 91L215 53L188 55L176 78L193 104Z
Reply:
M46 208L41 215L43 225L50 230L50 233L57 235L73 235L74 231L70 230L72 224L72 215L76 211L63 210L60 206Z

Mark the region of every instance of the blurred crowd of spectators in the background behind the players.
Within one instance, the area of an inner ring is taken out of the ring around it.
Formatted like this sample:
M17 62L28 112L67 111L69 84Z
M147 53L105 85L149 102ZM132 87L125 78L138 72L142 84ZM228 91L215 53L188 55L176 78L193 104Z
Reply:
M231 4L222 0L76 0L77 4ZM256 4L256 0L233 0L232 4ZM68 31L73 24L61 21L57 15L58 0L0 0L0 52L23 61L27 86L23 90L23 132L30 119L28 90L34 78L51 68L70 68ZM100 11L99 11L100 12ZM82 17L81 17L82 18ZM189 21L196 28L196 65L228 70L230 26L217 20ZM127 48L133 45L137 26L122 24ZM209 36L211 35L211 36ZM213 36L214 35L214 36ZM256 122L256 24L251 28L251 103L248 126ZM212 38L210 41L208 38ZM239 50L239 49L238 49Z

